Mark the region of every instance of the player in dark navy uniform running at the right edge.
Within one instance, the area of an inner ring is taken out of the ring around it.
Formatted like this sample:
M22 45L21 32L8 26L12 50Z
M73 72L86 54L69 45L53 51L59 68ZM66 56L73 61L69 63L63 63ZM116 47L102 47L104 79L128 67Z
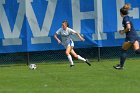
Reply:
M124 27L124 30L120 30L119 33L126 34L126 38L125 38L125 42L123 43L122 49L121 49L120 64L113 66L115 69L123 69L125 59L127 56L127 50L131 46L133 46L136 54L140 54L138 36L137 36L136 31L134 29L131 18L128 16L128 10L130 8L131 8L130 4L125 4L120 9L120 15L123 18L122 25Z

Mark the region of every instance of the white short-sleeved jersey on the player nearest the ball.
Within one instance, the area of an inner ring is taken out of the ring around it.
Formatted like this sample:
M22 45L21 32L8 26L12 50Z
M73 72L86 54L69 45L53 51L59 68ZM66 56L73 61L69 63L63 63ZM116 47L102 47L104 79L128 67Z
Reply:
M73 43L72 39L71 39L71 35L73 33L75 33L76 31L74 31L71 28L68 28L66 30L63 30L63 28L60 28L56 31L56 34L61 36L62 39L62 44L67 47L69 44ZM74 45L73 45L74 46Z

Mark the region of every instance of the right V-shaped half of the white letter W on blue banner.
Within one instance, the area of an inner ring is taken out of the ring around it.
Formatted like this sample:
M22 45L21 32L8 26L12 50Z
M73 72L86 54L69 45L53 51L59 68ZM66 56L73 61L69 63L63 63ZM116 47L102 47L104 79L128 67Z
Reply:
M46 0L48 1L48 6L46 9L46 14L42 25L42 29L39 28L37 18L35 16L33 7L31 5L32 1L33 0L26 0L26 16L31 31L33 33L33 37L31 38L31 43L32 44L51 43L51 38L48 37L48 34L54 17L57 0Z

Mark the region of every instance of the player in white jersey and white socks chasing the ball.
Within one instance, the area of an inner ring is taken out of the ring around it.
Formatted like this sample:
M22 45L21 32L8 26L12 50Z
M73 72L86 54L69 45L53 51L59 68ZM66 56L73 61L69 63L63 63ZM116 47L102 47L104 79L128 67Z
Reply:
M83 58L80 55L77 55L75 53L75 51L73 49L74 42L71 39L72 34L76 34L81 41L84 41L84 38L81 37L79 33L77 33L76 31L72 30L71 28L69 28L69 24L65 20L65 21L62 22L62 28L58 29L56 31L56 34L54 35L54 38L58 41L58 43L62 44L66 48L65 53L66 53L66 56L68 57L68 60L70 62L70 67L74 66L74 63L73 63L71 55L73 55L75 58L77 58L79 60L82 60L82 61L86 62L89 66L91 66L91 64L89 63L88 59L85 59L85 58ZM61 36L62 42L57 37L57 35Z

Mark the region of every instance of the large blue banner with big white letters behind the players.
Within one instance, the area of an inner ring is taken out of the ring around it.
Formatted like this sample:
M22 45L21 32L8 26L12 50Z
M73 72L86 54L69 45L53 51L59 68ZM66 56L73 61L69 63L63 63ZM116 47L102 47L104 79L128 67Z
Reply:
M140 36L140 0L0 0L0 53L64 49L53 37L63 20L85 38L75 48L121 46L125 3Z

